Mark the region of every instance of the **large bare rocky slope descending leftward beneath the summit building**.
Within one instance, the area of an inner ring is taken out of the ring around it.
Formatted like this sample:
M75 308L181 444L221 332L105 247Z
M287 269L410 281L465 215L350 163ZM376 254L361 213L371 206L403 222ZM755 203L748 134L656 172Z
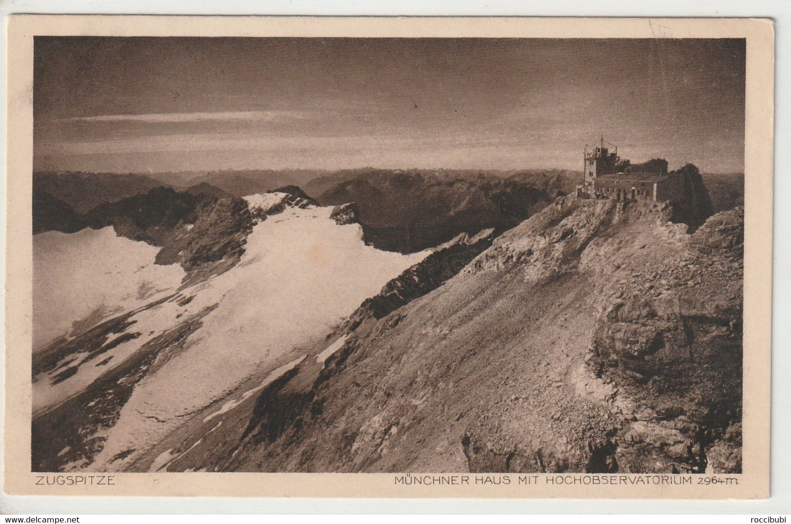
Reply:
M558 198L443 285L369 303L212 467L739 471L742 210L693 234L674 213Z

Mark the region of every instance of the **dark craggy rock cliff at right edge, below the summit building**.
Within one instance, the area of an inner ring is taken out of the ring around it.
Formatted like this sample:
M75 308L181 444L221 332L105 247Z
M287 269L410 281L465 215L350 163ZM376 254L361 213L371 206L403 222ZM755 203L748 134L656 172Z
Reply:
M740 473L743 239L743 210L719 213L603 304L589 366L634 399L614 439L631 469Z

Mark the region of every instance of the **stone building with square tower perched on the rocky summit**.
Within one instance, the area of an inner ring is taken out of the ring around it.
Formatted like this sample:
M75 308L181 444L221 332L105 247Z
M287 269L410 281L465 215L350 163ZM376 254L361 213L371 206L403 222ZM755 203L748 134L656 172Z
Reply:
M631 164L604 145L586 145L583 153L583 183L577 196L610 198L618 202L672 202L684 197L683 174L668 174L668 161L655 158L642 164Z

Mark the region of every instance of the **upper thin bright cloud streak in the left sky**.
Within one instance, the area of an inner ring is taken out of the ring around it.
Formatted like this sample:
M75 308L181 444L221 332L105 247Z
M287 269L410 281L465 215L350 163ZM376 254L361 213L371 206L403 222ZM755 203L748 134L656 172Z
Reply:
M142 122L142 123L195 123L195 122L286 122L310 117L308 111L205 111L194 113L142 113L138 115L74 116L64 122Z

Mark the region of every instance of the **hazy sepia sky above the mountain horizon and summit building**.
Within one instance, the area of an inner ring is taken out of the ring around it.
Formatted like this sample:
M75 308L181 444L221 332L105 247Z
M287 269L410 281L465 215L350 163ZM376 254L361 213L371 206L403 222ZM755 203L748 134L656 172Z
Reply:
M744 40L36 37L34 168L744 168Z

